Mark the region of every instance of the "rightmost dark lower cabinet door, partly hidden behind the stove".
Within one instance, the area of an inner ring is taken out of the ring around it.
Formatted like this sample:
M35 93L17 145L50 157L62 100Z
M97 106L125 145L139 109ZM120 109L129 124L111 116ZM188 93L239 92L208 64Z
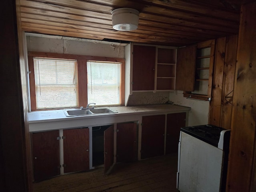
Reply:
M167 114L166 154L177 153L180 128L186 126L186 113Z

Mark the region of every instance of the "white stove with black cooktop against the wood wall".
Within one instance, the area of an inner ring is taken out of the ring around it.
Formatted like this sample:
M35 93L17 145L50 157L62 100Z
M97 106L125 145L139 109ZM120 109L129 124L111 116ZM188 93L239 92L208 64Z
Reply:
M230 130L200 125L182 127L178 152L180 192L224 192Z

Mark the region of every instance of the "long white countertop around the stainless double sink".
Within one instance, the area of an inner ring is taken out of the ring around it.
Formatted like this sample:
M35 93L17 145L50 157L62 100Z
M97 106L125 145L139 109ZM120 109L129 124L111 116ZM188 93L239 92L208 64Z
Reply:
M42 110L28 113L30 132L100 126L119 122L141 121L142 116L168 113L189 112L190 107L158 104L140 106L108 107L118 111L111 114L93 114L87 116L66 116L64 110Z

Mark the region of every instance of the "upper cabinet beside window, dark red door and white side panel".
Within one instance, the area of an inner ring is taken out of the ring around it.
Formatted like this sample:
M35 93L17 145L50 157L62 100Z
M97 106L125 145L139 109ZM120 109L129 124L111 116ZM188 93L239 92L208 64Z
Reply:
M125 47L125 101L132 92L175 89L176 47L128 44Z

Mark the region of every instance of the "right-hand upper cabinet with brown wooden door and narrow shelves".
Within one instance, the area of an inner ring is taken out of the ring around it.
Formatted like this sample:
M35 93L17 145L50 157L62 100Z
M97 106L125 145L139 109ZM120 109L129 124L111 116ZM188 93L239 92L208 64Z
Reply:
M211 98L214 49L215 40L178 49L176 90L184 90L184 97Z

